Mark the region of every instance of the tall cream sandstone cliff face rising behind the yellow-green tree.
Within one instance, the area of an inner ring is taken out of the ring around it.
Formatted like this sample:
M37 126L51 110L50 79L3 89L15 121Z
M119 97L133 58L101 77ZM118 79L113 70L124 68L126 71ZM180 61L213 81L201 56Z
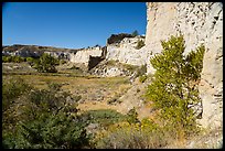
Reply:
M147 2L147 72L153 73L149 60L160 53L161 40L184 34L185 52L200 44L207 48L199 86L203 100L204 127L223 122L223 3L219 2Z

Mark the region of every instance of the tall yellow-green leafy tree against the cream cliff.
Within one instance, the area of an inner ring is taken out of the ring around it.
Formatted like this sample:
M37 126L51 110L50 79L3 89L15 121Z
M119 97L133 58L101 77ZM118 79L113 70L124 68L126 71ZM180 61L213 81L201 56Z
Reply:
M161 44L162 53L150 60L157 71L152 84L148 86L147 97L160 109L165 125L192 131L196 126L195 117L188 105L201 100L199 91L190 82L200 78L205 48L201 45L185 57L183 35L171 36Z

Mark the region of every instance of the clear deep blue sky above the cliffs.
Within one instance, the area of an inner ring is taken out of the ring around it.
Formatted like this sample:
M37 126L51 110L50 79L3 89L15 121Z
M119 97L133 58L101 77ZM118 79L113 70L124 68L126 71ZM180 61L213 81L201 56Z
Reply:
M111 34L144 34L146 15L144 2L8 2L2 44L104 46Z

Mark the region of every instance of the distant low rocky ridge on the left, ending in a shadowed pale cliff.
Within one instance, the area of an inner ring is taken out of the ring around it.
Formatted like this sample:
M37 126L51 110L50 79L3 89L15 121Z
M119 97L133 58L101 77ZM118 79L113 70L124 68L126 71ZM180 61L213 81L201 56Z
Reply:
M2 47L2 55L18 55L22 57L40 57L47 53L60 60L67 60L84 69L95 67L106 56L106 47L94 46L87 48L58 48L52 46L38 45L11 45Z

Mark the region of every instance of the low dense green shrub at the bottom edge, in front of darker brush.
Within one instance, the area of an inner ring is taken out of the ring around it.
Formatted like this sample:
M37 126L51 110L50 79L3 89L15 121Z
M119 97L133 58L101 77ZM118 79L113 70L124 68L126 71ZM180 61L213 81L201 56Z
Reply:
M25 149L77 149L88 144L86 125L65 112L42 114L39 119L20 127L18 148Z

